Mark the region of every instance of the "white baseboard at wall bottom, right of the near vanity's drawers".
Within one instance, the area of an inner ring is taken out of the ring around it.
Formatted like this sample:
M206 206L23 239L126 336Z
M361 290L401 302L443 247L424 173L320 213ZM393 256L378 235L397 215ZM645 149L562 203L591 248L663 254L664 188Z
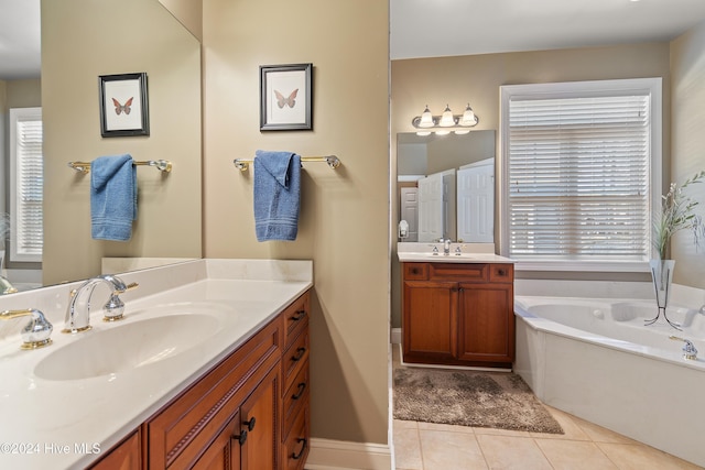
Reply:
M388 445L311 439L306 470L390 470L391 450Z

